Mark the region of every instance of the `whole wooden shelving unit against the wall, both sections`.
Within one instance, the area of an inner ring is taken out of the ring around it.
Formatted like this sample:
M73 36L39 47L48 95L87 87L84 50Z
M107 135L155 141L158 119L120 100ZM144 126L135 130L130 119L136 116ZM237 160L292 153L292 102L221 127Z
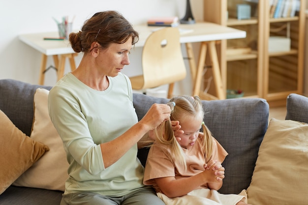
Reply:
M271 18L268 0L204 0L204 20L246 31L246 38L218 45L222 82L242 89L244 97L261 97L270 104L285 103L289 93L303 92L306 0L295 17ZM251 18L237 19L237 4L250 4ZM288 35L291 49L269 52L269 37Z

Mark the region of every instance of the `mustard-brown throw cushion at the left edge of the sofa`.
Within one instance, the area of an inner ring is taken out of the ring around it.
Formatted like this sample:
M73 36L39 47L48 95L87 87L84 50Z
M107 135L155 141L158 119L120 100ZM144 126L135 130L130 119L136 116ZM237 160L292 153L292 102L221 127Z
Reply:
M2 111L0 146L0 194L49 150L26 136Z

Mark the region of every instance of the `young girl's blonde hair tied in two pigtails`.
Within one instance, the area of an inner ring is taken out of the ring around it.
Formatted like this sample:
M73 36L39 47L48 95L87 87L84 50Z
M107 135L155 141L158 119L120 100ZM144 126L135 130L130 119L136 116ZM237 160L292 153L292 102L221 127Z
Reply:
M164 121L160 126L156 127L154 134L156 141L160 144L169 146L171 153L175 159L179 159L180 164L186 168L183 149L177 142L171 125L171 120L178 120L186 116L189 117L204 117L203 106L198 96L175 96L167 103L171 108L170 119ZM202 123L204 137L202 138L202 146L206 150L206 157L209 159L212 155L212 134L210 130Z

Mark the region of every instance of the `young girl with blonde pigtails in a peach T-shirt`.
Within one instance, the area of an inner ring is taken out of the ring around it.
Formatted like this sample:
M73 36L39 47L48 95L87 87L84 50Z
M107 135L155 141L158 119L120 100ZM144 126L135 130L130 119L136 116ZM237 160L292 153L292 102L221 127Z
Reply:
M144 184L152 185L166 205L246 205L243 195L220 194L228 154L212 137L203 122L204 111L198 96L176 96L167 105L170 120L154 130L144 174ZM178 120L183 134L177 141L171 120ZM203 129L204 135L199 135ZM199 136L199 137L198 137Z

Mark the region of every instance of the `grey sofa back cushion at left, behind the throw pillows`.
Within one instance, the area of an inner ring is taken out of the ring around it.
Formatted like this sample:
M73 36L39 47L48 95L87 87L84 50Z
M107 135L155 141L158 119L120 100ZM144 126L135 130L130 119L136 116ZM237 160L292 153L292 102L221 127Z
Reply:
M31 85L12 79L0 80L0 110L27 136L31 134L33 95L37 88L50 86Z

